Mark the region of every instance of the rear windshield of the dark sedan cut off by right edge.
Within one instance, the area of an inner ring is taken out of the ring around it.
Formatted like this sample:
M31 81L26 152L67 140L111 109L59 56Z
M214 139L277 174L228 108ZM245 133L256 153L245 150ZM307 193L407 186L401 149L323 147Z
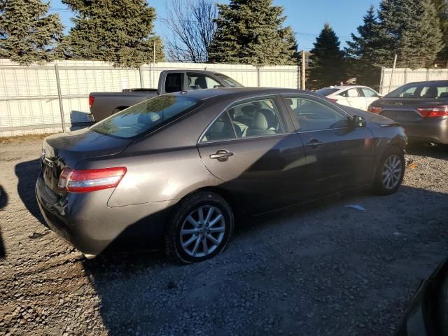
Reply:
M397 90L387 94L386 97L391 98L447 98L448 99L448 83L416 83L407 84L398 87Z

